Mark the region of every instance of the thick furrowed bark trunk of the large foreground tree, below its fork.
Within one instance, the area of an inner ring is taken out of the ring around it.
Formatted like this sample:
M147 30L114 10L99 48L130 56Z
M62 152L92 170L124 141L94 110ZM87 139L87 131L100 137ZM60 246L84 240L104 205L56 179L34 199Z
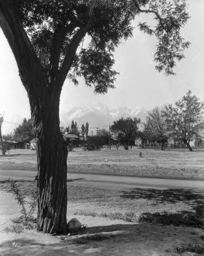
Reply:
M37 228L47 233L67 231L67 147L59 129L59 96L46 87L42 97L29 95L37 145Z

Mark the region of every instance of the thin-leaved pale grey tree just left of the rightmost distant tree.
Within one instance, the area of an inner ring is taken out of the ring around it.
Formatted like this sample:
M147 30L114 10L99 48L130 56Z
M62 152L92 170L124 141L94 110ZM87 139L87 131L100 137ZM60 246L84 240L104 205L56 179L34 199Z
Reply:
M149 141L161 143L161 150L164 149L163 144L167 142L167 123L162 109L156 107L149 111L144 122L143 134Z

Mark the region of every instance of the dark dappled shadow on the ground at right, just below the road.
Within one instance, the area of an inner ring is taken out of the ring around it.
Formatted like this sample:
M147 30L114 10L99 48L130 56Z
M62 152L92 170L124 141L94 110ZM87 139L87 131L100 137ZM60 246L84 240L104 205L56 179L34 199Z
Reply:
M203 198L204 191L191 189L152 189L152 188L133 188L122 191L120 197L128 199L148 199L159 203L177 203L190 200L200 200Z

